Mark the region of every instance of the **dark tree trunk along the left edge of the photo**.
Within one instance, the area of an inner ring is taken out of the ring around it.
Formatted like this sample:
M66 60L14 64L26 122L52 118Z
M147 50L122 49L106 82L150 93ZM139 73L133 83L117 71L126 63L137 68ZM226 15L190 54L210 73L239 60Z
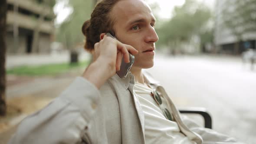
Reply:
M5 102L6 15L7 15L7 0L0 0L0 115L6 114L6 102Z

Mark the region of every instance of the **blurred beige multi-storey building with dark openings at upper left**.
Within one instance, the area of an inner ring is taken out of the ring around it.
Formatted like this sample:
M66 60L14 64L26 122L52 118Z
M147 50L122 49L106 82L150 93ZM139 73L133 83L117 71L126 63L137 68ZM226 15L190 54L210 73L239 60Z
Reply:
M55 14L46 0L7 0L7 53L49 53Z

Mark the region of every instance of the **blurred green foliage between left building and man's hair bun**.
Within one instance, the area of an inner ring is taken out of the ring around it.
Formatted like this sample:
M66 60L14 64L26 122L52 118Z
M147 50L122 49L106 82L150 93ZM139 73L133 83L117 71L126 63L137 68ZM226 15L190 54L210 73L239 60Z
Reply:
M73 12L57 29L57 40L73 49L84 40L81 28L90 18L93 3L92 0L69 0L68 6L73 8Z

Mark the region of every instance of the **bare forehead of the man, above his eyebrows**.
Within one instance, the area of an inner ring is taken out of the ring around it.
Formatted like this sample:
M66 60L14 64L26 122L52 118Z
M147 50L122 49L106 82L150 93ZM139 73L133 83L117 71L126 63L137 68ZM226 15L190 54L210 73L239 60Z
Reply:
M155 19L151 8L144 0L120 0L113 7L111 17L115 24L124 25L138 19Z

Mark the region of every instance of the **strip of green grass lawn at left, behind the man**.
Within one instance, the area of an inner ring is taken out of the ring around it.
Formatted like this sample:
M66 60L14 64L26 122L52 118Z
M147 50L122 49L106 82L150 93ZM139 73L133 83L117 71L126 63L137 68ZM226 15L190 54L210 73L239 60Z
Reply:
M88 65L88 63L89 62L79 62L73 65L70 65L69 63L60 63L60 64L39 65L39 66L19 66L19 67L7 70L7 74L30 75L30 76L58 75L64 72L68 72L71 69L85 68Z

